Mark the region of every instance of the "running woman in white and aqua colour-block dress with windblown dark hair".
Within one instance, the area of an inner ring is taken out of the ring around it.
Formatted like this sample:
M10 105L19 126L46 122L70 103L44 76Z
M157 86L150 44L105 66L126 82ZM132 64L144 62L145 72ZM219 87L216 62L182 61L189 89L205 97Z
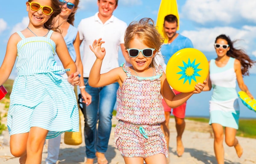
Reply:
M243 153L236 138L240 114L236 81L239 88L253 98L243 81L243 75L249 75L248 69L255 61L241 49L234 48L233 43L226 35L216 38L214 47L217 58L209 61L209 75L203 89L209 91L213 88L209 124L214 132L214 152L218 164L224 164L224 133L226 144L236 149L239 158Z

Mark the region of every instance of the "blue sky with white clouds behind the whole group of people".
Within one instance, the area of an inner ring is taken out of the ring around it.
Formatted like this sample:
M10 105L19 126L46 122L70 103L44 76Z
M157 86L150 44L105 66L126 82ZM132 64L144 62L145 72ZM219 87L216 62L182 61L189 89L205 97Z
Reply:
M150 17L156 21L161 0L119 0L114 15L127 24L133 20ZM246 2L246 3L245 3ZM177 0L180 16L178 33L191 39L194 48L202 51L208 60L215 58L214 41L216 36L226 34L232 40L239 39L235 47L243 48L248 55L256 60L256 1L255 0ZM11 9L11 8L12 9ZM81 19L98 11L97 0L80 0L75 17L75 26ZM2 63L6 45L10 35L25 29L28 25L26 1L9 0L6 7L0 10L0 63ZM120 55L119 61L123 62ZM251 93L256 97L256 67L245 77ZM10 78L14 79L17 70L14 67ZM239 88L237 89L239 91ZM208 116L208 101L211 91L192 96L188 101L187 114ZM198 101L198 99L202 99ZM203 110L195 112L198 105ZM241 116L254 117L256 113L247 110L240 102Z

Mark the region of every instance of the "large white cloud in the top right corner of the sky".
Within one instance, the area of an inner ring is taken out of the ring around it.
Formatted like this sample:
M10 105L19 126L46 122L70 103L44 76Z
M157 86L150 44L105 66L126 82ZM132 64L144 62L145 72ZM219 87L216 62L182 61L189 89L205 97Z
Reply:
M220 21L224 24L247 20L256 23L255 0L187 0L182 16L200 24Z

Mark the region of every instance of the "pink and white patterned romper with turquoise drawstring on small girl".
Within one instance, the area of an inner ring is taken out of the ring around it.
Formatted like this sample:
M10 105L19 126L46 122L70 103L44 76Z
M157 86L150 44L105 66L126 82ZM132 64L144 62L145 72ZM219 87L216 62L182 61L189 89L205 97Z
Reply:
M131 75L128 67L122 87L117 90L115 147L125 157L143 157L163 153L168 157L167 144L160 123L164 122L164 109L160 94L163 70L142 78Z

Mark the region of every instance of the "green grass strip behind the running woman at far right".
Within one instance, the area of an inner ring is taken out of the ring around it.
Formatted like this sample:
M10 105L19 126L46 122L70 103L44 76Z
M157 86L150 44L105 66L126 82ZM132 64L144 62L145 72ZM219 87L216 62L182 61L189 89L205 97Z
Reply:
M209 122L208 118L203 117L186 117L186 119ZM256 119L239 119L239 129L236 135L240 137L256 138Z

